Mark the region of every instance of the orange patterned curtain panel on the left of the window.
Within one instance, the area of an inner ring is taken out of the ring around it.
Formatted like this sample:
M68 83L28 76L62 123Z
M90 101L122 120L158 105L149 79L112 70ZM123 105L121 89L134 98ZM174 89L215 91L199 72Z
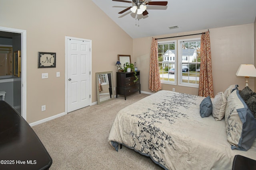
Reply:
M157 39L154 38L152 39L150 52L149 89L156 92L161 90L158 66L158 43Z

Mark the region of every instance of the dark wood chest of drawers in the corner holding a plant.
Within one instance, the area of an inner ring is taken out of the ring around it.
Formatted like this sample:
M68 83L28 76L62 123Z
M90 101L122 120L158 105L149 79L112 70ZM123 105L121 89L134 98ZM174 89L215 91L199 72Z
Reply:
M137 71L136 76L138 80L134 82L136 80L134 72L116 72L116 98L120 94L126 100L127 95L140 92L140 71Z

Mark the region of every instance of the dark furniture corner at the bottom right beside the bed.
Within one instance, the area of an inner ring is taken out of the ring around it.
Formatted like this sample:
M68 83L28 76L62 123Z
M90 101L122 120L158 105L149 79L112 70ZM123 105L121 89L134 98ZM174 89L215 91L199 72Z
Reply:
M233 160L232 170L256 170L256 160L236 155Z

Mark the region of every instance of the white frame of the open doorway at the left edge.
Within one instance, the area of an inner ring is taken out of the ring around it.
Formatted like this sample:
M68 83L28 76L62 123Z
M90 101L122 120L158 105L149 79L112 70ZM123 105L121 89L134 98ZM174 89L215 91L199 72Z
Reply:
M27 120L27 31L0 27L0 31L21 34L21 116Z

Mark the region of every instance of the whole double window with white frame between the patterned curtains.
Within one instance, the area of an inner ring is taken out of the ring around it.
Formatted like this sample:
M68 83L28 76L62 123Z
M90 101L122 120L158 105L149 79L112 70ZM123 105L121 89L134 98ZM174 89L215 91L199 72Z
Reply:
M158 64L161 83L198 87L200 74L200 38L158 42ZM178 56L178 57L177 57Z

